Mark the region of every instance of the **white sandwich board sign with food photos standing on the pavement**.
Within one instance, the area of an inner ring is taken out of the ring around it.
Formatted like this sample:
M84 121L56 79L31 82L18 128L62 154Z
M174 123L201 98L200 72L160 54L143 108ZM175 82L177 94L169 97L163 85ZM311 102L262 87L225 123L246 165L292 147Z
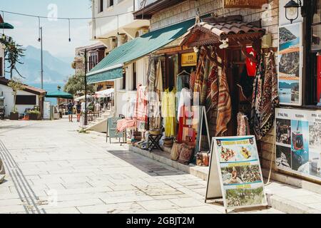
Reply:
M205 202L222 197L225 210L267 206L254 135L213 138Z

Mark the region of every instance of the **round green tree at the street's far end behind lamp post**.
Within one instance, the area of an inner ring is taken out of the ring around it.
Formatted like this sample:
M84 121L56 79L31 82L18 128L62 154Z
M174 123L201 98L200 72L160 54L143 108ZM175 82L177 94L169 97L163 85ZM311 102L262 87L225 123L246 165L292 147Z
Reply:
M80 95L85 92L85 76L74 75L68 78L66 85L63 87L63 91L71 93L72 95ZM93 85L87 85L87 93L95 92Z

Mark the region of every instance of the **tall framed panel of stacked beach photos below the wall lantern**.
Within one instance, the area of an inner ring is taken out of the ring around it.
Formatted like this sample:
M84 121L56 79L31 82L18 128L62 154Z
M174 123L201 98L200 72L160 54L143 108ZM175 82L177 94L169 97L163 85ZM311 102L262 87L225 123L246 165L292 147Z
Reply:
M302 105L302 23L279 27L278 88L282 105Z

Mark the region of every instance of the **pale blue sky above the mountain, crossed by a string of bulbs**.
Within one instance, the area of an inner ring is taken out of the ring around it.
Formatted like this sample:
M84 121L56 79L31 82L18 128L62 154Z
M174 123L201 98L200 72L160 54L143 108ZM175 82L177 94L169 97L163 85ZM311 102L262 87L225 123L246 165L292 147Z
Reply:
M52 17L55 9L57 9L58 17L91 17L91 1L89 0L0 0L0 11ZM4 13L4 21L14 26L12 30L5 30L6 35L11 36L23 46L31 45L40 48L37 18ZM95 43L90 41L88 23L89 20L71 21L71 42L69 42L68 20L41 19L44 50L63 61L71 61L76 47Z

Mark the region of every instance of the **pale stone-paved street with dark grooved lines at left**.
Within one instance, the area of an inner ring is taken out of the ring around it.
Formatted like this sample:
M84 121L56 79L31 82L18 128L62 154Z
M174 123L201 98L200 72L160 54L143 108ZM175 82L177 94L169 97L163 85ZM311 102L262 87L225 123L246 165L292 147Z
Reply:
M206 182L79 134L78 123L0 121L0 213L223 213L205 204ZM259 207L234 213L280 213Z

